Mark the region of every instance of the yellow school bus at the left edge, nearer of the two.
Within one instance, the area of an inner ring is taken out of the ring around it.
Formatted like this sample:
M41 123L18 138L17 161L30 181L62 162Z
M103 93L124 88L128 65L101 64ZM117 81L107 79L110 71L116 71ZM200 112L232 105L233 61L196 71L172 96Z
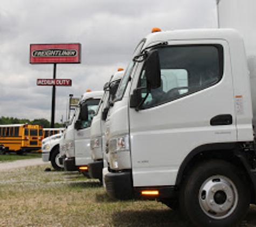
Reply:
M5 151L24 154L31 151L41 151L43 127L30 124L0 125L0 146Z

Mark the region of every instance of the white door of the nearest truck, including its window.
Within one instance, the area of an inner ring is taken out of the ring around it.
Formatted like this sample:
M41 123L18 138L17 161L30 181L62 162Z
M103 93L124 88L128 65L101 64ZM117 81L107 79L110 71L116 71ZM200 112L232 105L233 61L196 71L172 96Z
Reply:
M134 187L175 185L179 166L195 148L236 141L228 48L207 40L155 49L161 68L156 89L148 88L138 63L133 89L144 100L137 110L129 108Z

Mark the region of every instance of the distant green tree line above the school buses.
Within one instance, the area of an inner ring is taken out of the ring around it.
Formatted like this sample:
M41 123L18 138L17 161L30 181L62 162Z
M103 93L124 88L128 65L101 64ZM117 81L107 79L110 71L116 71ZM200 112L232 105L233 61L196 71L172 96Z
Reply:
M50 127L50 122L47 119L40 118L40 119L34 119L34 120L29 120L29 119L18 119L18 118L13 118L13 117L1 117L0 118L0 125L5 125L5 124L33 124L33 125L41 125L44 128ZM64 127L63 124L60 123L55 123L54 127Z

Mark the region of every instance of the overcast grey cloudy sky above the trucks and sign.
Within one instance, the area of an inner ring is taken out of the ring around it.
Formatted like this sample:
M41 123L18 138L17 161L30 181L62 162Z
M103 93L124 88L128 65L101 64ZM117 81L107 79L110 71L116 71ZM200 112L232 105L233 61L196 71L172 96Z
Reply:
M53 65L29 63L30 44L79 42L81 63L57 65L55 122L66 120L69 94L101 90L126 68L137 43L162 30L217 27L216 0L0 0L0 116L51 118Z

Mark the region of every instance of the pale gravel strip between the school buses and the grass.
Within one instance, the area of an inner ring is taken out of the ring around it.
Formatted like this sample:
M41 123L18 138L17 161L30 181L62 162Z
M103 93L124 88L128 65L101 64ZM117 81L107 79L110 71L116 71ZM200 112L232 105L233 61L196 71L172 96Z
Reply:
M21 167L27 167L27 166L37 166L37 165L43 165L43 164L47 164L47 163L43 162L41 158L3 162L3 163L0 163L0 171L8 171L8 169L15 169L15 168L21 168Z

